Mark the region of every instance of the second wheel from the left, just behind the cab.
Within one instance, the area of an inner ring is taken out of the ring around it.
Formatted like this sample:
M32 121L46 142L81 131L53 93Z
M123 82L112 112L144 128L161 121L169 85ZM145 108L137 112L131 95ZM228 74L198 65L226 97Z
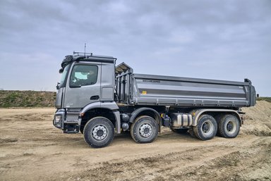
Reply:
M137 143L150 143L157 138L158 128L155 119L150 116L140 116L131 126L131 136Z

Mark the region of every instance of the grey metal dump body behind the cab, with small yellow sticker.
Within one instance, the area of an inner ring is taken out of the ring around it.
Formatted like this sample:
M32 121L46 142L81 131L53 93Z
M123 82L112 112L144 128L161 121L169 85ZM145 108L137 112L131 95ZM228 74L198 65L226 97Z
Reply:
M188 77L134 74L117 76L120 102L128 105L247 107L255 105L250 80L233 82Z

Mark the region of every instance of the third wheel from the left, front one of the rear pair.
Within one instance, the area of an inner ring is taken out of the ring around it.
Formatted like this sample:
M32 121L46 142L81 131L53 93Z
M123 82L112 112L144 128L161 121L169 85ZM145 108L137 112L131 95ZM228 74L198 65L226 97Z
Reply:
M202 115L193 127L193 133L201 140L212 139L217 134L217 121L210 115Z

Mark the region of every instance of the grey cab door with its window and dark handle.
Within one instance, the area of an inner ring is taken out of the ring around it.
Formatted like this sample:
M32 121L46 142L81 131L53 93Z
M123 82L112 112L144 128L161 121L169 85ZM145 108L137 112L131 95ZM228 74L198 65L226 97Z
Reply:
M83 108L100 101L101 63L73 63L68 76L65 108Z

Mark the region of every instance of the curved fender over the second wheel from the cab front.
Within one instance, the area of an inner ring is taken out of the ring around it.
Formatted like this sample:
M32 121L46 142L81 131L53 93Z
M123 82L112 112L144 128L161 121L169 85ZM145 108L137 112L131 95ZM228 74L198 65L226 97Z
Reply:
M140 116L150 116L154 118L159 126L159 132L161 132L162 118L159 113L153 108L138 108L133 111L131 114L131 118L129 120L130 123L133 123L136 118Z

